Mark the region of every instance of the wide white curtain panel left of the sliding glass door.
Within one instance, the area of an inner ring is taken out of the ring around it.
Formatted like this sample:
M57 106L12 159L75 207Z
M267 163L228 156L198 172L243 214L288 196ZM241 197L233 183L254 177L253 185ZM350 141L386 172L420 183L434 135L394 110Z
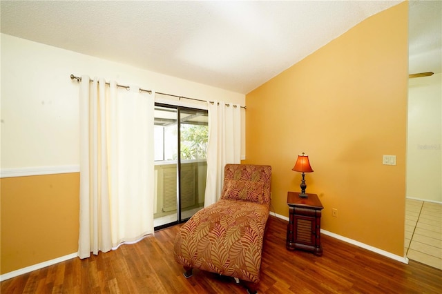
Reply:
M153 233L154 93L80 86L80 258Z

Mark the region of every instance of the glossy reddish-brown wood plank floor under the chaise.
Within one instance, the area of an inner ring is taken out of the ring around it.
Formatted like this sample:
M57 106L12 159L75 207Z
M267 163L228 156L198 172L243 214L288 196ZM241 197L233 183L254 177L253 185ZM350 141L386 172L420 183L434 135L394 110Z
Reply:
M228 277L193 271L173 259L180 226L89 259L70 259L1 282L1 293L245 293ZM287 222L270 217L258 293L442 293L442 271L402 264L322 235L323 256L285 248Z

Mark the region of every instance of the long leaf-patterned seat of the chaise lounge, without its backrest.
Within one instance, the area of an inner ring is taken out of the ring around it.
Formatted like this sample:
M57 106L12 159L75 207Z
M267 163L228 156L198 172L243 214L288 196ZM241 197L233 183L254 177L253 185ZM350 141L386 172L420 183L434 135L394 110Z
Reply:
M268 217L266 204L220 199L180 228L175 260L190 268L257 283Z

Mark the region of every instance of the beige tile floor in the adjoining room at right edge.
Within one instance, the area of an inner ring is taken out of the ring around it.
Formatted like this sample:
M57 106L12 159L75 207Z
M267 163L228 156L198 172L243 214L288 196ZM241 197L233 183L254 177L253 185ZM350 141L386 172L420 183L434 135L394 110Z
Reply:
M406 199L405 253L409 259L442 269L442 204Z

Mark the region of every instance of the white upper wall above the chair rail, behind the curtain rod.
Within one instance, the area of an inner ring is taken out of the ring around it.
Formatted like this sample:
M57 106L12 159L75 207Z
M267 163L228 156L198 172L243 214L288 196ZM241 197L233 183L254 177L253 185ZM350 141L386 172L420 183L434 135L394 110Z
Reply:
M76 76L245 105L245 95L1 34L1 168L79 164ZM157 99L162 99L164 96ZM157 101L157 99L155 101ZM177 99L171 99L171 103ZM182 100L187 106L205 103ZM242 156L245 155L243 112Z

